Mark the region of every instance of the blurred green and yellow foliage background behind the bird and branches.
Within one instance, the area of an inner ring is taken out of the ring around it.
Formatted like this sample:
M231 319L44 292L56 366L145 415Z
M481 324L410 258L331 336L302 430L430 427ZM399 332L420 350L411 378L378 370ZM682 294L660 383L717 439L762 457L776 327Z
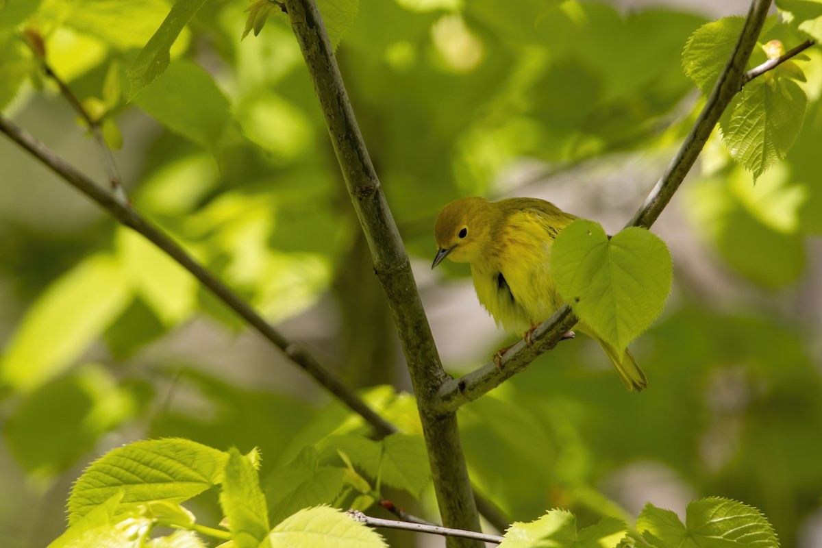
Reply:
M136 210L418 431L395 327L283 16L241 41L249 4L206 2L169 70L127 104L125 71L171 2L42 0L23 15L21 2L6 3L4 115L106 180L94 140L16 38L37 30L48 64L105 113ZM617 232L699 112L681 68L686 40L748 5L516 3L360 0L329 25L453 375L511 340L464 265L430 270L441 207L536 196ZM770 32L786 48L804 39L782 25ZM473 481L509 518L563 507L585 525L602 513L635 518L647 502L682 515L717 495L760 508L783 546L822 546L822 56L812 48L807 58L810 106L787 159L754 185L713 136L653 227L675 281L663 317L631 347L649 389L626 392L580 337L460 412ZM259 446L265 470L346 416L186 273L6 138L0 166L0 545L58 536L72 481L118 444ZM396 496L436 515L430 489L418 505Z

